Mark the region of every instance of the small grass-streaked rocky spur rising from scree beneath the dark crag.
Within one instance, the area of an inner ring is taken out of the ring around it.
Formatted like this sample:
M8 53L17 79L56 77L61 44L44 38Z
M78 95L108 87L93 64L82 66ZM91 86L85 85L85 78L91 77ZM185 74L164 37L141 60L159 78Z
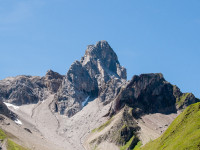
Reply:
M137 126L136 123L133 122L132 108L128 106L124 107L124 109L121 110L120 113L113 116L100 127L93 129L92 133L103 131L107 126L112 123L112 121L115 121L115 123L109 129L109 131L106 131L103 135L97 137L90 142L90 145L93 146L94 150L98 149L99 143L97 141L100 141L101 143L102 141L107 141L109 139L108 141L111 141L111 143L118 145L120 150L130 149L130 147L133 147L134 144L138 141L138 137L135 135L135 131L133 129ZM124 135L125 132L128 133L126 136ZM140 145L141 142L139 142L137 147L139 148Z

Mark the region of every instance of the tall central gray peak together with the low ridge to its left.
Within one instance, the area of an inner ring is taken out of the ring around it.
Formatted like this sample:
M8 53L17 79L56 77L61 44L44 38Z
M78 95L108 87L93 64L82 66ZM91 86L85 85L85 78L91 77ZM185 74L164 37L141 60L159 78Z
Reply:
M57 93L53 109L72 116L94 98L109 103L125 83L126 69L110 45L99 41L88 46L84 57L71 65L66 76L49 70L44 77L21 75L1 80L0 100L22 105Z

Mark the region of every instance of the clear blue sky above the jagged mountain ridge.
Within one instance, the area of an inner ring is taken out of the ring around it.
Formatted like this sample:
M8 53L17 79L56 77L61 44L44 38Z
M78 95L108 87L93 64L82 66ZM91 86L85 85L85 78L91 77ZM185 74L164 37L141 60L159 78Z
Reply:
M66 74L99 40L128 79L162 72L200 97L200 0L0 0L0 79Z

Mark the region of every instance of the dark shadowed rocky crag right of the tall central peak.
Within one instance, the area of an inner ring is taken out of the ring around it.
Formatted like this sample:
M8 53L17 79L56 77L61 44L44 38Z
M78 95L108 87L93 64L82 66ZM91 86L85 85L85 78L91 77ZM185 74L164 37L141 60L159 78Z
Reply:
M134 108L136 116L148 113L169 114L198 101L193 94L180 92L177 86L167 82L160 73L135 75L117 95L110 114L118 112L125 105Z

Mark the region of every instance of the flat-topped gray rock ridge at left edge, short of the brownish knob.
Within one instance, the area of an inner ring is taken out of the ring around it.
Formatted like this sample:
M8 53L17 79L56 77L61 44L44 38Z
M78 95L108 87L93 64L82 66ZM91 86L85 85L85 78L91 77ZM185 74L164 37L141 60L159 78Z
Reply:
M43 96L43 88L41 77L10 77L0 81L0 98L16 105L36 103Z

